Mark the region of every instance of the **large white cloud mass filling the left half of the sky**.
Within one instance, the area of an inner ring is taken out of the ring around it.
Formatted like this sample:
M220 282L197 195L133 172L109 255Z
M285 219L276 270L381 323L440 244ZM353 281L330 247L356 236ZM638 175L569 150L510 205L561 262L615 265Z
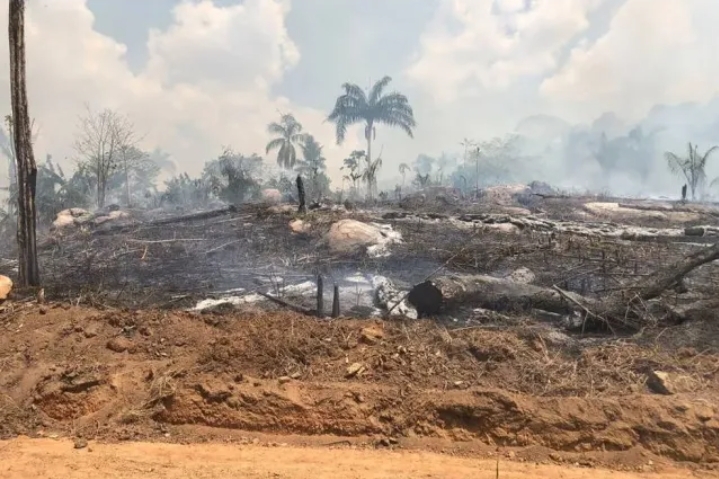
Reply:
M77 118L87 104L127 114L145 146L160 146L181 169L197 173L223 145L264 153L267 123L278 110L291 110L327 145L337 176L344 151L354 145L334 145L325 112L271 93L300 58L285 29L288 11L283 0L223 8L210 0L182 2L167 30L151 32L146 68L133 74L124 45L93 29L84 0L31 0L27 75L30 113L40 128L37 156L74 157ZM0 24L7 24L7 8L0 9ZM7 52L6 38L0 48ZM6 55L0 70L8 71ZM0 88L9 92L7 75ZM10 111L9 95L0 97L0 111Z

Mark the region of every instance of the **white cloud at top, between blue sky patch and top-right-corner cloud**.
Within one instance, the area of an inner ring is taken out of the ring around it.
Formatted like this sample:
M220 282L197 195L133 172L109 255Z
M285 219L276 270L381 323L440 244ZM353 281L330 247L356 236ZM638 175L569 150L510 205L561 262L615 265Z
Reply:
M436 101L506 90L557 67L602 0L442 0L407 71Z

